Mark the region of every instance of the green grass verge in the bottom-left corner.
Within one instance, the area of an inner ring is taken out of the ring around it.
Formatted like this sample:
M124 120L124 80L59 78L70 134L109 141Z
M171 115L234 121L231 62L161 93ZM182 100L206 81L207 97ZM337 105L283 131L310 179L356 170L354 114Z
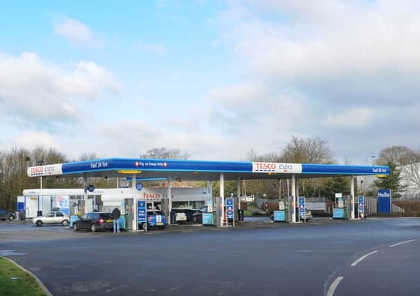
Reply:
M0 257L0 295L45 296L45 293L28 272Z

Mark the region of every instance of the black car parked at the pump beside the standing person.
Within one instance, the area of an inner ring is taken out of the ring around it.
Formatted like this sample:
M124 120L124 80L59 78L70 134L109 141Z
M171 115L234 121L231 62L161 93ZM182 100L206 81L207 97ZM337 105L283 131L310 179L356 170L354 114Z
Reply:
M81 229L90 229L92 232L97 232L98 230L105 231L106 229L113 228L112 214L111 213L100 213L94 211L92 213L87 213L82 216L79 220L74 221L73 230L77 232Z

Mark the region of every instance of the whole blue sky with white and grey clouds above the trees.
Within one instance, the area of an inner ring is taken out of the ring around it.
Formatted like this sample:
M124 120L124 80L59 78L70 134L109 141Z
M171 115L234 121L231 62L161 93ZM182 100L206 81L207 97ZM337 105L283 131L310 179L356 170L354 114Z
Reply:
M244 160L292 135L337 162L418 149L420 1L8 1L0 148Z

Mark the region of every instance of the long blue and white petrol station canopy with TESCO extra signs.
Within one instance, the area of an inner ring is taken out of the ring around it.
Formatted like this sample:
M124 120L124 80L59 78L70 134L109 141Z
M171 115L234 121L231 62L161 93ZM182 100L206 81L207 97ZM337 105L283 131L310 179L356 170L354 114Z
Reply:
M275 162L220 162L202 160L170 160L140 158L106 158L83 162L67 162L28 168L29 177L171 177L176 180L287 179L299 178L389 175L388 166L350 166L335 164L289 164Z

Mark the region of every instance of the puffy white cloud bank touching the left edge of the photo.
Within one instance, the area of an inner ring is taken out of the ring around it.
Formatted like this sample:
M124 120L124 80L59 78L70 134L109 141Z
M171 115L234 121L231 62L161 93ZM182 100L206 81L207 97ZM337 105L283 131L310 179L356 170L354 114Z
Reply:
M0 107L3 116L29 123L78 120L78 102L116 94L121 85L93 62L63 69L35 53L15 57L0 53Z

